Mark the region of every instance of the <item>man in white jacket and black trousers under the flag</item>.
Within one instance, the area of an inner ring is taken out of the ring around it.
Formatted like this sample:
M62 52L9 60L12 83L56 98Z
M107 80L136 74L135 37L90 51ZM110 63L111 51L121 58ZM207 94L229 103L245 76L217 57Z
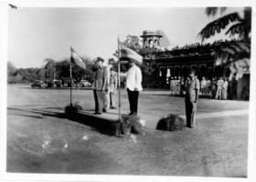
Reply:
M138 113L138 99L139 92L143 90L142 86L142 71L132 61L130 62L130 68L127 72L126 89L128 93L128 99L130 104L130 114L137 115Z

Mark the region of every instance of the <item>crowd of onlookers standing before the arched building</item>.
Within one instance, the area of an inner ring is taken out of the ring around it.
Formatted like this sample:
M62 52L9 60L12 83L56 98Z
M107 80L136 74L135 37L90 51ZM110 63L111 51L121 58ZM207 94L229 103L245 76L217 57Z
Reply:
M223 100L227 99L229 78L223 79L222 77L212 77L207 79L204 76L202 77L202 80L199 80L197 76L195 76L195 78L200 83L199 90L201 96ZM170 77L169 85L171 96L185 95L188 80L189 78L185 78L185 76Z

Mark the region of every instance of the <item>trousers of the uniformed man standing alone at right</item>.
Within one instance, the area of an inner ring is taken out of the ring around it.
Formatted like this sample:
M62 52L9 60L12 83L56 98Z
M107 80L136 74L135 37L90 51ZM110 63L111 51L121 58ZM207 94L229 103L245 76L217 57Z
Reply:
M186 102L186 118L188 127L196 126L196 111L197 103Z

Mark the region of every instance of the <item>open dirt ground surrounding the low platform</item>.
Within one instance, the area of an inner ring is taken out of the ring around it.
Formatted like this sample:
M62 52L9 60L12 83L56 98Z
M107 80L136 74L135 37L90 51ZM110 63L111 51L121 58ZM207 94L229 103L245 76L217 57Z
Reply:
M185 114L184 98L141 92L141 113ZM73 100L93 109L91 90L73 90ZM122 91L123 107L128 108ZM142 176L247 177L249 116L197 119L197 127L145 136L109 136L64 115L68 89L7 87L9 173ZM200 99L197 113L248 109L243 101Z

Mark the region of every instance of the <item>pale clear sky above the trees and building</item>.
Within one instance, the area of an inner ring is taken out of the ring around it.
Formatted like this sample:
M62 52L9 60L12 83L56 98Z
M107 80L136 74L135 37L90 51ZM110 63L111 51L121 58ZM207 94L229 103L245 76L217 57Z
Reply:
M200 42L198 33L219 14L208 17L206 7L19 7L8 9L7 60L16 68L40 67L45 58L60 61L70 56L70 46L91 59L105 63L117 50L117 38L159 30L161 46ZM242 11L229 7L224 15ZM229 39L220 34L213 42ZM142 44L142 43L141 43Z

